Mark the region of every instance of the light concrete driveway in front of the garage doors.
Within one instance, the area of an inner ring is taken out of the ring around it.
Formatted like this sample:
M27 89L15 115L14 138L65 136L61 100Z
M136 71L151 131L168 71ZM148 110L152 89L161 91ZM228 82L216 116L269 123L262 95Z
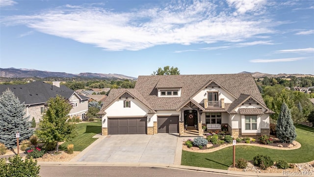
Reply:
M82 151L77 161L173 164L177 142L178 136L166 133L108 135Z

